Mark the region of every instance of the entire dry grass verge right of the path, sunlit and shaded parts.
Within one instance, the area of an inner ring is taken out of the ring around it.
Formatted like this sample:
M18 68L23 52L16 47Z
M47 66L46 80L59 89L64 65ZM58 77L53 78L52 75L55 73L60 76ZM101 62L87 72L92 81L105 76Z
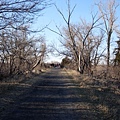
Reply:
M98 114L97 119L120 119L120 79L98 79L80 75L74 70L66 71L74 78L74 83L79 84L79 94L84 94L85 101L92 103L91 108Z

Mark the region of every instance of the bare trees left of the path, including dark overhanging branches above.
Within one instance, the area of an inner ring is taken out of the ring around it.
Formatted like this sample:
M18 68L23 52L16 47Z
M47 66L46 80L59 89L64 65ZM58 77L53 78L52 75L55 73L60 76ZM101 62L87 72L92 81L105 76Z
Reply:
M43 62L46 53L44 37L30 38L29 23L41 15L45 0L0 1L0 78L32 71Z

